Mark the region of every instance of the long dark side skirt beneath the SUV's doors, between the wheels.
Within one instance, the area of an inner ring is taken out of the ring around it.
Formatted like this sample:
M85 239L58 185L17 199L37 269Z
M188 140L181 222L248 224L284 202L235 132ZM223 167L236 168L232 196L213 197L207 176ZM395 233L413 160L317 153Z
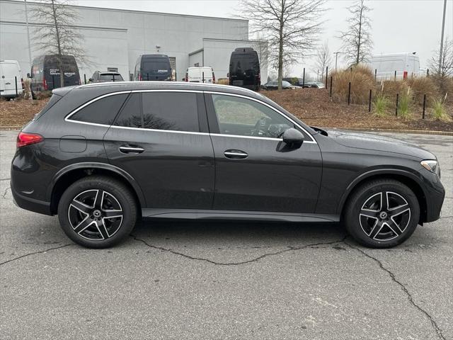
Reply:
M340 215L301 214L294 212L263 212L242 210L142 209L142 217L187 220L253 220L279 222L340 222Z

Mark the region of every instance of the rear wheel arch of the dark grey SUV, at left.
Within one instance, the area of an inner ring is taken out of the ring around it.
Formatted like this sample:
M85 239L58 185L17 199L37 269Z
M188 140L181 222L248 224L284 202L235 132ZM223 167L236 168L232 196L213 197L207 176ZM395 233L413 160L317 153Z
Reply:
M50 197L50 211L55 215L58 210L58 203L64 191L74 182L87 176L102 175L111 177L125 184L134 194L137 201L137 210L141 212L146 206L143 193L132 176L122 169L110 166L110 164L71 164L59 171L55 179L50 183L48 197Z

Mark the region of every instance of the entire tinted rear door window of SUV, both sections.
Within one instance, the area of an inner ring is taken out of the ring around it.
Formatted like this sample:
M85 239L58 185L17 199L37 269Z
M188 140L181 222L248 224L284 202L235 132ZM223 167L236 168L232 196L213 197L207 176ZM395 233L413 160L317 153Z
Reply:
M114 125L199 132L197 96L195 93L159 91L132 94Z

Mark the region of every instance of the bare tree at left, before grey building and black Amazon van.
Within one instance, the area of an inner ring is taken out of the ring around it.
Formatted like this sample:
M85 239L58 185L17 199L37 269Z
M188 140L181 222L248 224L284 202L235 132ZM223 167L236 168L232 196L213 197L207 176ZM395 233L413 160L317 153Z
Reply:
M63 56L73 55L83 64L89 62L83 47L83 35L74 28L79 15L69 4L67 0L42 0L30 9L33 20L38 23L33 30L35 50L55 55L61 86L64 85Z

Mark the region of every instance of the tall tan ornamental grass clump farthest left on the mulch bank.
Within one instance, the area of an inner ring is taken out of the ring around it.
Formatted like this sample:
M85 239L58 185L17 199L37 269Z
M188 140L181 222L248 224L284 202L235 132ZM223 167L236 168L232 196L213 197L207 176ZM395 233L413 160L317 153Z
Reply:
M374 74L371 69L359 65L351 69L333 72L332 98L333 101L344 103L348 100L348 87L351 83L351 103L368 103L369 90L374 89Z

